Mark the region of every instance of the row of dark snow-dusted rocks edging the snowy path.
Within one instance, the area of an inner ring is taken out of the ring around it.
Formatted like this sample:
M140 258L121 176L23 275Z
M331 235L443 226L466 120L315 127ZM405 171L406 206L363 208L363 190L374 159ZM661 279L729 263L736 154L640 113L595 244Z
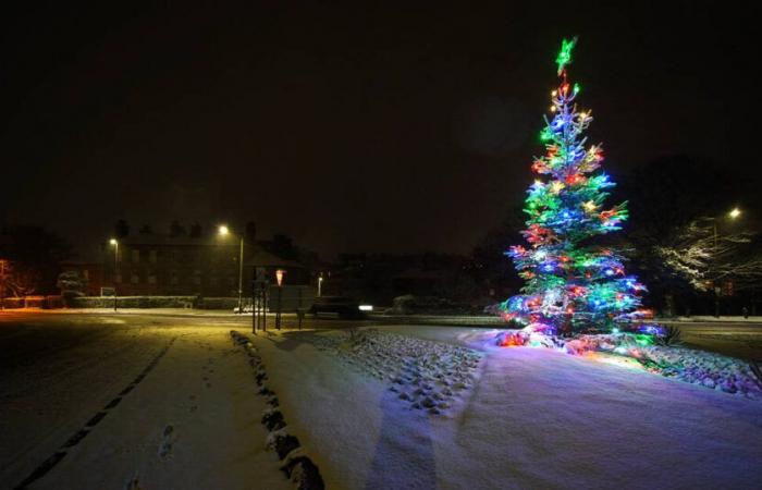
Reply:
M259 388L258 393L266 397L267 408L262 412L261 422L268 429L267 449L274 451L283 463L281 470L291 479L297 490L323 490L325 485L318 467L304 454L299 440L286 430L286 422L280 409L280 402L275 393L270 390L265 381L268 380L262 358L257 348L246 335L231 330L233 342L242 347L248 356L248 362L254 369L254 379Z

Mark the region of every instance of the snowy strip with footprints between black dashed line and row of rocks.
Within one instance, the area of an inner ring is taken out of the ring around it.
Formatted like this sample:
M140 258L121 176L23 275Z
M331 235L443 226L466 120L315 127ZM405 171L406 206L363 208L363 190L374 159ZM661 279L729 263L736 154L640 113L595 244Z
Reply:
M265 399L226 332L164 335L175 341L153 369L30 488L291 488L266 450Z

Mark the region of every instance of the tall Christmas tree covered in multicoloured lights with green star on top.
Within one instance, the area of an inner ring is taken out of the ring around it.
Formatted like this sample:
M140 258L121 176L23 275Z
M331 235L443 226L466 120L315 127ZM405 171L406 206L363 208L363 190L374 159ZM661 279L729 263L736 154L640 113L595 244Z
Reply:
M606 207L614 183L601 171L601 146L586 147L582 137L592 117L577 108L580 87L569 83L566 72L576 41L564 40L556 59L560 83L552 91L552 119L545 117L540 133L546 152L531 167L539 177L528 191L528 228L521 232L530 246L507 253L526 284L523 294L502 305L507 320L552 335L635 330L649 316L639 308L646 287L626 275L624 257L591 243L619 230L627 208L626 203Z

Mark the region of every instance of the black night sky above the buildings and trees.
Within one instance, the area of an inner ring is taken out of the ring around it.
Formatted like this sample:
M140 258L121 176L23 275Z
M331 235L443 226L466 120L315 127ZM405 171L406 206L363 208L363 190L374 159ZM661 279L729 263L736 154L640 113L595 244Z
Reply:
M0 221L78 245L125 218L254 220L324 256L467 252L531 182L575 34L610 173L687 152L760 174L751 2L20 3Z

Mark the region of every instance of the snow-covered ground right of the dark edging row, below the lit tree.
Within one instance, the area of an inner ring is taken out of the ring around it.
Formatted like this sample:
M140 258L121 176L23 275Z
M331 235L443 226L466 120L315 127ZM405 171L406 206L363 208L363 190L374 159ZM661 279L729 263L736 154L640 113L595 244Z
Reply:
M762 481L759 401L656 376L615 356L496 347L495 333L400 326L352 335L269 333L255 345L291 432L314 455L328 488L751 488ZM458 372L464 381L446 409L426 411L420 400L442 393L444 385L432 382L438 375ZM401 399L407 387L425 383L431 390L417 394L421 408Z

